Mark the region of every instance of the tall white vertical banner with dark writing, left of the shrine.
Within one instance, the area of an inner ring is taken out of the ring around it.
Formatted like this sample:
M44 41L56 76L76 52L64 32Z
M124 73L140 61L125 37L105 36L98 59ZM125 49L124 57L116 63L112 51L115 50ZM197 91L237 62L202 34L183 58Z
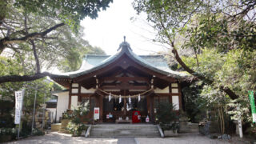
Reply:
M23 91L15 91L15 124L19 124L21 122L23 95Z

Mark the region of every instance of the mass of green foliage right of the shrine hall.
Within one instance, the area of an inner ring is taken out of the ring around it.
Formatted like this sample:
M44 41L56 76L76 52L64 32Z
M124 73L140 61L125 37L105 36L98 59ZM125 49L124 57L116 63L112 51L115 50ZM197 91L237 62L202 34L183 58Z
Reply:
M183 56L182 61L195 71L194 75L202 75L198 103L208 110L218 107L232 119L242 114L245 122L252 120L247 91L256 87L255 6L254 0L134 2L134 9L145 12L158 32L155 42L194 52ZM238 99L231 101L222 92L223 87ZM226 117L223 115L220 118Z

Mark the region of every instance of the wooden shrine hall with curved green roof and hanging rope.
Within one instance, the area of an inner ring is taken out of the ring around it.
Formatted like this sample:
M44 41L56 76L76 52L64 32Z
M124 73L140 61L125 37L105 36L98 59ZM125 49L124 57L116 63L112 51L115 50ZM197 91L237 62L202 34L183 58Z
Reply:
M171 102L175 110L182 109L184 77L170 70L162 55L134 54L124 41L117 54L86 55L79 70L51 77L67 89L57 94L57 119L88 102L88 118L97 122L130 120L134 110L140 112L142 122L146 118L154 122L158 102Z

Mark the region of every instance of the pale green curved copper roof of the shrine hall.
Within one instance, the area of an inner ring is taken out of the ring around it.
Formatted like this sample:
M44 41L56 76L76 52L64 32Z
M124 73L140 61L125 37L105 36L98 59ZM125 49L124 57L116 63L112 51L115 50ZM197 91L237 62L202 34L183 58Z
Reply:
M81 76L83 74L90 74L96 70L101 69L104 66L108 66L110 63L114 62L118 58L122 56L122 54L126 54L134 61L138 62L140 65L149 68L150 70L154 70L158 73L165 74L167 76L171 76L174 78L180 78L182 76L186 76L185 73L177 72L171 70L167 64L166 58L162 55L137 55L130 49L130 45L127 42L122 42L120 44L121 50L118 51L117 54L114 55L91 55L88 54L83 58L82 66L79 70L58 74L59 78L75 78Z

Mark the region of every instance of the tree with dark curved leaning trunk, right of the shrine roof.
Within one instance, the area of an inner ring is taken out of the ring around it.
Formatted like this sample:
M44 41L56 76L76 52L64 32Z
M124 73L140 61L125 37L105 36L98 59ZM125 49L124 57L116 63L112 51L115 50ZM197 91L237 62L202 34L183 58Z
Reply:
M230 3L234 3L234 5ZM233 49L252 50L255 45L255 14L249 13L254 10L255 5L256 2L253 0L240 2L232 0L224 2L218 0L136 0L134 9L138 13L146 12L147 20L153 24L154 29L158 32L155 41L170 46L173 57L184 70L195 78L212 85L214 79L199 72L196 67L187 66L178 54L178 49L194 49L197 60L197 54L207 46L212 49L222 47L222 50L230 50L232 46L227 45L230 40L233 41L233 46L236 46ZM224 34L220 35L223 32ZM178 37L186 39L182 46L176 44L177 41L175 40ZM218 89L225 91L232 99L239 97L238 94L234 93L234 90L226 85L219 85Z

